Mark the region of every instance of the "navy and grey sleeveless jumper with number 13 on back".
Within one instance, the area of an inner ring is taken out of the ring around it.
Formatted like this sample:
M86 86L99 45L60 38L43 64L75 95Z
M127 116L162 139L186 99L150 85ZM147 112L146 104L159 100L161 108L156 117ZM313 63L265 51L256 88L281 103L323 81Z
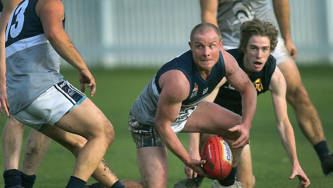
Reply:
M60 57L47 40L35 12L37 1L22 1L6 29L6 83L11 114L64 81L59 73Z

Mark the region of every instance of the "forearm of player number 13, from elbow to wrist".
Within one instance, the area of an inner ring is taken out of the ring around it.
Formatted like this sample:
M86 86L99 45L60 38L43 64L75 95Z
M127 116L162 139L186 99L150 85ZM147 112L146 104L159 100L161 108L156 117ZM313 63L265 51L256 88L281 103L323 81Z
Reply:
M47 38L54 50L60 55L61 58L63 58L77 70L87 68L87 64L82 59L81 55L65 31L51 33L47 35Z

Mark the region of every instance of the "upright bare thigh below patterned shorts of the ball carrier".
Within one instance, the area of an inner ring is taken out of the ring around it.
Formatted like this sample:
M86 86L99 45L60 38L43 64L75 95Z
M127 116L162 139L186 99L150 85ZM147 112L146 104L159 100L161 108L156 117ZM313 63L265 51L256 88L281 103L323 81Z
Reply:
M164 146L137 148L137 160L144 187L166 187L168 156Z

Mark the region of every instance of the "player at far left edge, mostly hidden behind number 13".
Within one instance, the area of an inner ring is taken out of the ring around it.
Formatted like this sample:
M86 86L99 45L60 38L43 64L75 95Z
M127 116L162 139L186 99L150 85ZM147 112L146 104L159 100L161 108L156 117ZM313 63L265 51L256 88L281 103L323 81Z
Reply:
M7 103L6 78L4 71L6 71L6 54L5 54L5 32L8 19L13 9L22 0L2 0L0 10L3 12L0 18L0 110L2 115L6 114L8 119L6 121L3 137L3 155L5 171L3 174L5 187L20 187L22 185L26 188L31 188L36 179L35 172L39 162L51 141L51 139L38 131L31 129L25 145L25 160L22 168L18 170L18 163L23 139L24 126L22 123L15 120L9 115L9 105Z

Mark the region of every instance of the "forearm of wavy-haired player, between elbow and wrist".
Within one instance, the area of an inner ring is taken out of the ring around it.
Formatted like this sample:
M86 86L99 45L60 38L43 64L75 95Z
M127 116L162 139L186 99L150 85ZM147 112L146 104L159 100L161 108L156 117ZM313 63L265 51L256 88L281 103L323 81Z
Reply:
M290 122L283 122L281 125L278 124L278 131L282 145L287 152L290 162L293 165L299 164L296 152L296 143L294 136L294 129Z

